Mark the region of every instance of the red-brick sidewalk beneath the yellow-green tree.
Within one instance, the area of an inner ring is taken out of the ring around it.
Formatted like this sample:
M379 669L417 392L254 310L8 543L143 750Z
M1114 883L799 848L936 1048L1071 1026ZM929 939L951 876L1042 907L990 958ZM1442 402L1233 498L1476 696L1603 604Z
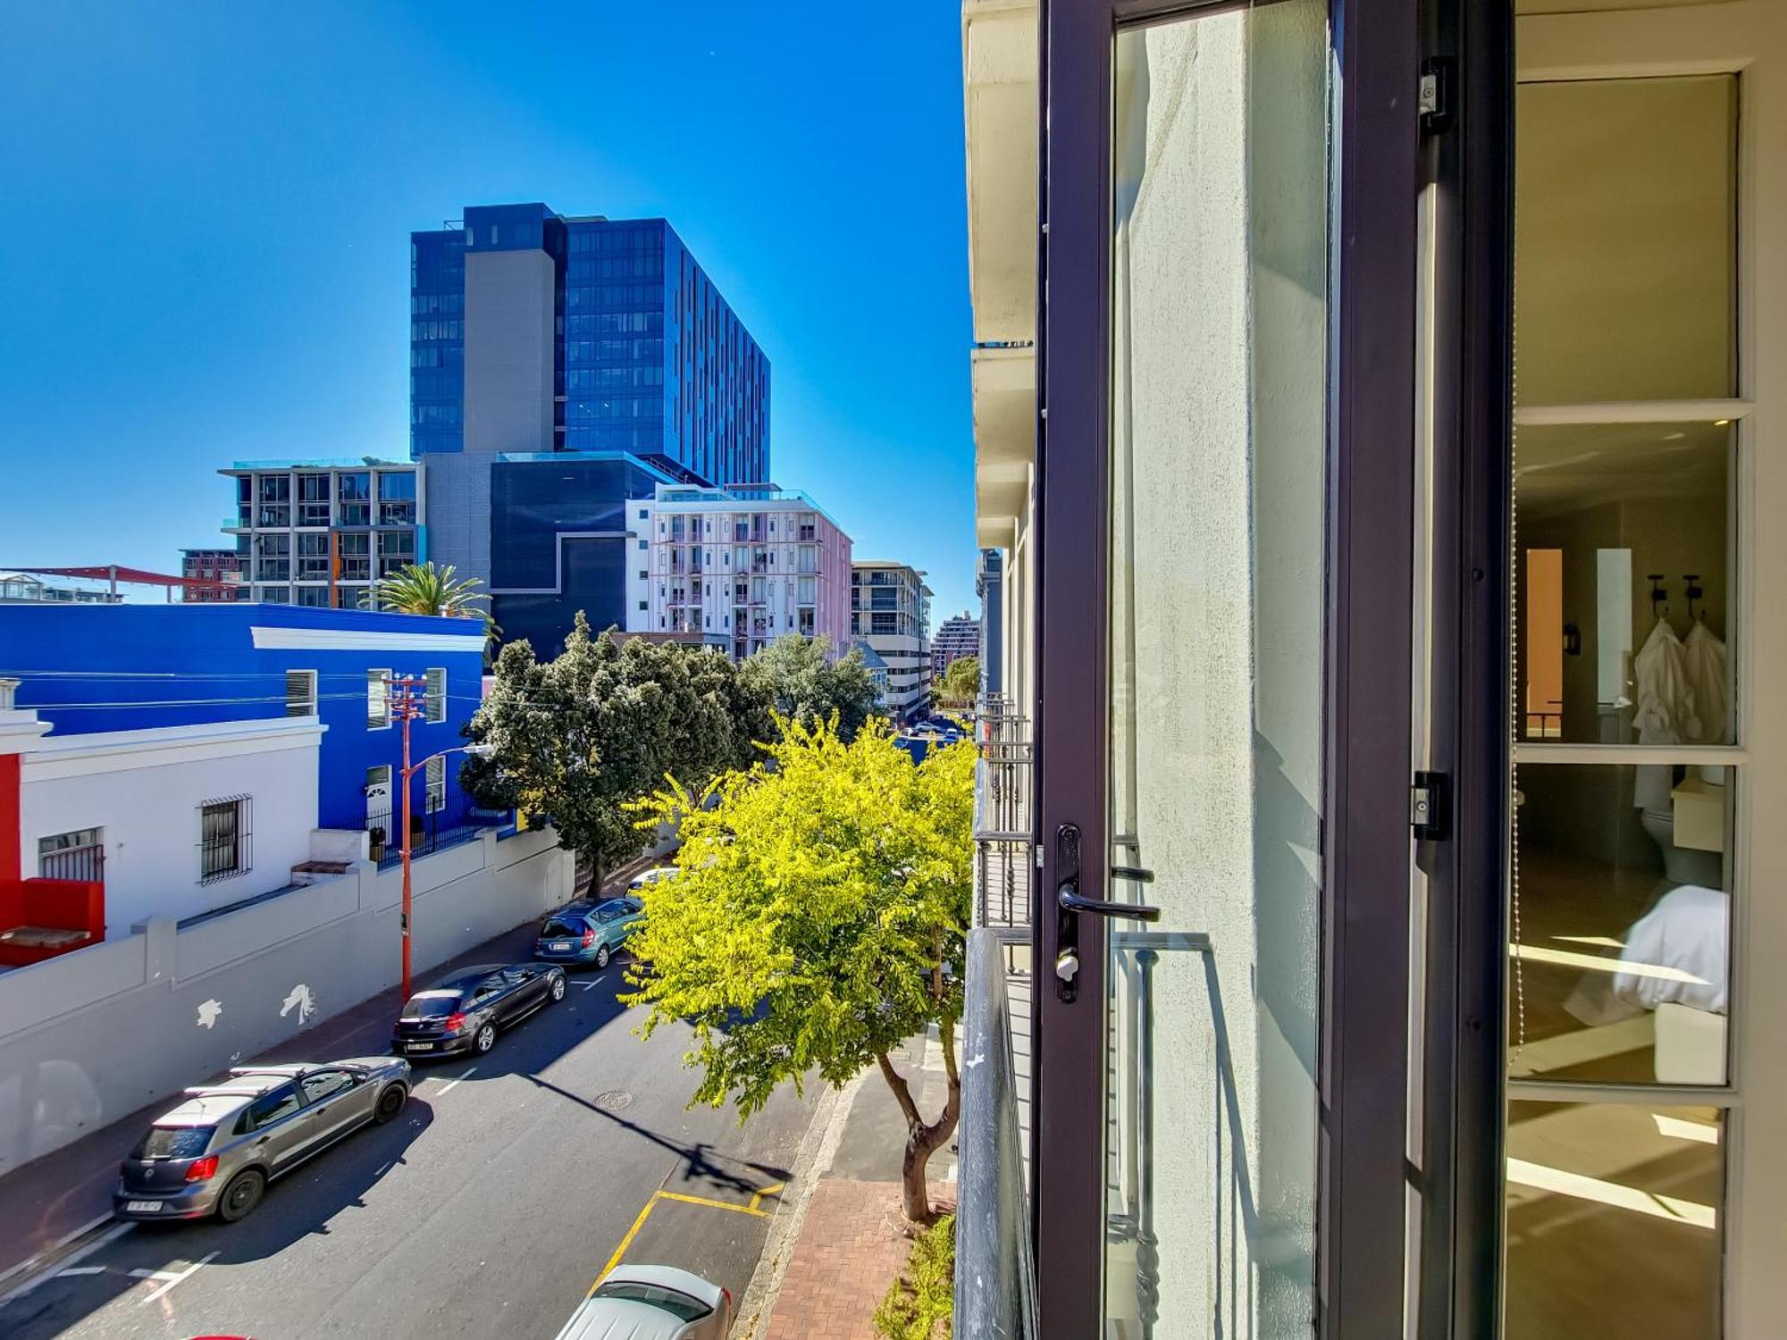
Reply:
M944 1108L942 1051L919 1036L894 1056L924 1117ZM831 1118L811 1192L797 1211L799 1236L765 1299L759 1340L876 1340L874 1313L911 1251L901 1215L899 1165L906 1118L879 1070L852 1081ZM931 1204L952 1210L954 1142L931 1156ZM792 1226L790 1226L792 1227Z

